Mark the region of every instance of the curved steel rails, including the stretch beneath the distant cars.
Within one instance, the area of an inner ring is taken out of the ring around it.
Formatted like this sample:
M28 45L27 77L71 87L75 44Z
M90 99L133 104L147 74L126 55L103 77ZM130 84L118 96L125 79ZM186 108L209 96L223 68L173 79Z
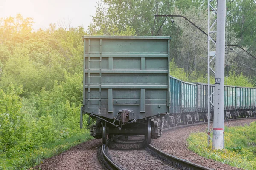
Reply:
M255 118L250 117L250 118L240 118L240 119L229 119L228 121L243 120L243 119L255 119ZM175 128L189 127L189 126L194 126L194 125L202 125L202 124L207 124L207 122L198 122L198 123L194 123L194 124L169 127L169 128L164 129L164 131L172 130ZM119 140L119 141L116 142L116 140ZM120 142L120 141L122 141L122 142ZM136 147L132 146L133 144L138 144L138 143L143 143L143 146L141 148L136 148ZM154 162L158 162L159 164L161 164L161 165L159 165L161 167L160 169L166 169L166 170L180 170L180 169L182 169L182 170L212 170L208 167L204 167L204 166L192 163L190 161L180 159L180 158L170 155L168 153L164 153L162 150L157 149L156 147L154 147L151 144L145 144L142 139L125 140L125 139L122 139L122 137L120 138L120 136L119 137L116 136L116 139L113 139L112 141L108 140L107 144L103 144L102 147L99 148L99 150L100 150L99 153L102 154L102 158L98 157L98 159L100 160L103 169L107 169L107 170L128 169L128 168L124 167L123 165L120 165L120 161L118 161L119 163L117 163L117 161L115 161L113 159L113 157L111 157L112 154L109 153L109 148L110 148L109 146L113 145L113 144L119 144L119 147L117 150L120 150L120 152L124 152L124 150L126 150L126 151L145 150L147 153L149 153L151 156L153 156L156 160L160 160L160 162L154 161ZM122 147L120 147L120 145L126 145L126 146L130 145L130 148L129 147L122 148ZM113 148L113 147L111 147L111 148ZM145 155L146 154L143 153L142 156L145 156Z

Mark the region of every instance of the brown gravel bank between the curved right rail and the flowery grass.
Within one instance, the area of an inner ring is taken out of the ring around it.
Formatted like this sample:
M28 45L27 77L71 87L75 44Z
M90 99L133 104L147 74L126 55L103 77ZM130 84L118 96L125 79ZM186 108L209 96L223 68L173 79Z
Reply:
M254 121L255 119L230 121L228 122L228 127L244 126ZM225 123L225 125L227 126L227 122ZM197 133L197 132L206 133L206 129L207 129L207 124L168 130L163 133L163 136L161 138L152 139L151 144L165 153L172 154L181 159L185 159L195 164L200 164L202 166L209 167L215 170L239 169L237 167L232 167L228 164L224 164L223 162L215 161L209 158L204 158L203 156L200 156L197 153L194 153L192 150L189 150L188 148L189 144L187 142L187 139L189 138L190 134ZM207 144L207 136L205 139L201 140L200 142Z

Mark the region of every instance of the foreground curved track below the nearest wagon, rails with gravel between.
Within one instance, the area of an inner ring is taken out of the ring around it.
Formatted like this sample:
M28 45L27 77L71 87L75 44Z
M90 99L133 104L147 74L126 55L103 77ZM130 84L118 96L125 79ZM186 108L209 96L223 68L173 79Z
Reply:
M179 159L175 156L164 153L163 151L158 150L157 148L152 146L151 144L145 144L141 139L133 140L132 136L130 138L132 140L125 141L122 139L117 139L118 141L113 141L113 142L109 141L108 144L102 144L102 147L99 148L99 153L101 156L98 158L103 169L106 169L106 170L129 169L129 167L126 167L124 164L120 164L122 163L121 161L123 159L121 158L117 158L117 160L115 158L113 159L113 157L115 157L114 155L118 155L120 152L122 152L125 155L130 154L131 157L135 157L134 155L137 155L138 157L144 157L149 162L154 162L154 166L152 166L151 164L150 165L151 167L148 167L148 169L211 170L207 167L193 164L192 162ZM143 138L144 136L142 136L142 139ZM122 146L125 146L125 147L122 147ZM111 153L109 152L110 148L111 148ZM126 157L127 161L131 160L131 157ZM136 159L136 157L134 159ZM142 162L142 164L148 165L148 162ZM138 165L138 167L139 166L140 165Z

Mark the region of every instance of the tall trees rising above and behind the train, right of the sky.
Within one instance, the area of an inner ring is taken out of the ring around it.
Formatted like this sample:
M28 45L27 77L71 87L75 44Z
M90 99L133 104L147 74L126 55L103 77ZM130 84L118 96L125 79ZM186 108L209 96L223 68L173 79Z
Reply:
M207 77L207 36L182 17L155 19L154 15L182 15L207 33L207 10L206 0L101 0L88 33L116 35L129 27L136 35L171 36L171 59L195 81ZM216 17L213 13L211 22ZM255 0L227 1L226 45L240 45L256 56L255 13ZM214 45L211 50L215 51ZM225 76L242 73L256 85L256 59L234 46L226 48L225 58Z

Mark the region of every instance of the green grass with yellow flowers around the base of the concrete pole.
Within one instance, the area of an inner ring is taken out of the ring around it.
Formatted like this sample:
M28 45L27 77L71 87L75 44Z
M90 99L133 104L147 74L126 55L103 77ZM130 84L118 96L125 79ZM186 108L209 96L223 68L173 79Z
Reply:
M225 127L223 150L207 146L207 133L192 133L187 140L189 149L200 156L247 170L256 168L256 122L244 127Z

